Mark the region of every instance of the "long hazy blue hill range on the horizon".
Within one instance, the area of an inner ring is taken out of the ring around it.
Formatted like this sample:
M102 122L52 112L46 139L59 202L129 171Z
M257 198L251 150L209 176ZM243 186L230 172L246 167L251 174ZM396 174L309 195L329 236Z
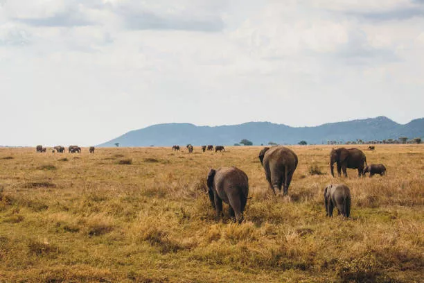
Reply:
M297 144L301 140L307 141L308 144L326 144L328 140L371 141L398 137L424 137L424 118L415 119L405 125L387 117L376 117L299 128L270 122L213 127L195 126L191 123L164 123L132 130L99 146L115 146L117 142L120 146L233 145L241 139L249 139L254 145L267 144L269 141L277 144Z

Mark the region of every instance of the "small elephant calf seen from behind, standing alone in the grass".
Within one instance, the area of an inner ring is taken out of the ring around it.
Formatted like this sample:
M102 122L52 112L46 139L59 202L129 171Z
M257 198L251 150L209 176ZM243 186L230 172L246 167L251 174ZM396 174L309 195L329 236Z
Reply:
M328 185L324 189L326 215L333 217L333 209L337 207L338 214L345 217L351 215L351 190L343 184Z

